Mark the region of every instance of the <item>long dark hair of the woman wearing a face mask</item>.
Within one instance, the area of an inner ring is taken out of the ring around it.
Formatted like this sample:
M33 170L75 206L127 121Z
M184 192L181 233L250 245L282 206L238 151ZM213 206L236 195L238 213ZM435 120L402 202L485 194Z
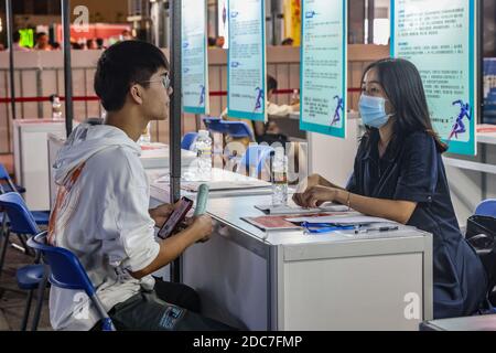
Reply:
M393 107L393 140L401 141L412 132L424 131L433 137L438 151L445 152L448 146L432 128L422 78L417 67L403 58L384 58L368 65L362 82L373 68ZM367 129L368 132L374 130Z

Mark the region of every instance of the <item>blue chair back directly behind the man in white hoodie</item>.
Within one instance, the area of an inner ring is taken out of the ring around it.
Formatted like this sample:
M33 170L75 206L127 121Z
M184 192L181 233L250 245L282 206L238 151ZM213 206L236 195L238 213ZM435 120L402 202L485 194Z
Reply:
M28 245L40 252L44 263L50 266L48 280L52 286L64 289L84 290L100 315L103 331L116 331L110 317L105 311L96 293L91 280L76 255L65 248L47 245L46 232L31 237L28 240Z

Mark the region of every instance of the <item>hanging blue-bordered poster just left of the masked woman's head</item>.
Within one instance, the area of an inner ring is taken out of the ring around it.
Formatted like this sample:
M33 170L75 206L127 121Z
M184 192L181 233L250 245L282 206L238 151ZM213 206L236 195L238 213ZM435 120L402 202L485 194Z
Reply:
M347 1L302 0L302 130L346 137Z

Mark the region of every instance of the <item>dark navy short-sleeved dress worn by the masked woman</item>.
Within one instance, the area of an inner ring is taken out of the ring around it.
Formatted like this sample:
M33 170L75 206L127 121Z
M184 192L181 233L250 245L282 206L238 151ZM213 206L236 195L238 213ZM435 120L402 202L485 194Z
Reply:
M422 131L396 138L379 158L379 138L371 130L362 139L346 189L416 202L408 225L433 235L434 318L472 314L486 292L485 272L460 232L434 139Z

